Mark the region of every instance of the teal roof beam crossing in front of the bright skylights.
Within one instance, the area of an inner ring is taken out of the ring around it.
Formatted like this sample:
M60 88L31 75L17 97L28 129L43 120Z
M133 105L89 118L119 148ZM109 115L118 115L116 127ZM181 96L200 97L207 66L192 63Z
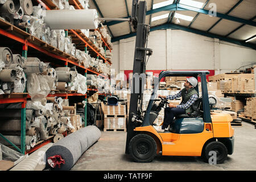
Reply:
M146 12L146 15L151 15L151 14L154 14L154 13L158 13L160 11L194 11L194 12L197 12L197 13L207 14L207 15L210 12L209 10L199 9L199 8L192 7L192 6L181 5L179 3L175 3L175 4L172 4L172 5L159 7L158 9L149 10L149 11ZM254 26L254 27L256 26L256 22L253 22L251 20L238 18L236 16L230 16L230 15L226 15L226 14L222 14L222 13L216 13L216 17L222 18L222 19L228 19L228 20L231 20L233 22L249 24L249 25ZM124 18L128 18L128 17L124 17ZM120 23L120 22L111 21L111 22L107 22L105 24L110 26L110 25L117 24L117 23Z

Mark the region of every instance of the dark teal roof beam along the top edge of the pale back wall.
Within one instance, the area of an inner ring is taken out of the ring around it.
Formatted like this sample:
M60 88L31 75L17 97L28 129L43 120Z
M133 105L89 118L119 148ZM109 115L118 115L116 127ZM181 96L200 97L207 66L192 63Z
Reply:
M233 43L233 44L237 44L239 46L244 46L244 47L249 47L249 48L252 48L252 49L256 49L256 45L255 44L246 43L245 40L237 40L237 39L232 39L232 38L226 38L225 36L221 36L221 35L217 35L217 34L212 34L210 32L205 32L205 31L197 30L195 28L188 28L188 27L180 26L180 25L177 25L177 24L174 24L174 23L166 23L166 24L162 24L160 26L152 27L152 28L150 28L150 31L161 30L161 29L168 29L168 28L177 29L177 30L183 30L183 31L191 32L193 34L207 36L209 38L220 39L222 41ZM127 39L127 38L130 38L132 36L136 36L136 33L127 34L127 35L123 35L123 36L118 36L117 38L113 38L112 42L116 42L116 41L121 40L121 39Z

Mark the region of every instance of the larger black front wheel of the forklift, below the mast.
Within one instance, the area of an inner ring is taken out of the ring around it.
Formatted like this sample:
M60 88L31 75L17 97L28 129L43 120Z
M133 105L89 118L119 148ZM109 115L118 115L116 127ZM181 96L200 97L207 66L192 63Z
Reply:
M138 163L149 163L156 155L156 142L146 134L135 135L129 143L129 152Z

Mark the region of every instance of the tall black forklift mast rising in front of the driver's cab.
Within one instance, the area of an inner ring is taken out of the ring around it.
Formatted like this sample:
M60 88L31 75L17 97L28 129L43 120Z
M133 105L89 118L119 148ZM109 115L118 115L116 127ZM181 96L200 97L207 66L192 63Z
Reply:
M125 153L129 154L129 142L134 137L135 122L131 122L131 115L142 114L142 100L143 100L143 89L144 80L143 77L139 78L138 82L135 77L146 73L146 56L152 55L152 49L148 49L146 46L148 35L150 32L150 25L145 24L146 19L147 2L133 0L133 7L131 10L131 25L134 30L137 31L134 62L133 62L133 80L131 82L131 97L130 97L130 111L129 120L127 122L127 137L126 137L126 149ZM138 78L138 77L137 77ZM136 84L136 85L135 85ZM139 88L139 89L138 89Z

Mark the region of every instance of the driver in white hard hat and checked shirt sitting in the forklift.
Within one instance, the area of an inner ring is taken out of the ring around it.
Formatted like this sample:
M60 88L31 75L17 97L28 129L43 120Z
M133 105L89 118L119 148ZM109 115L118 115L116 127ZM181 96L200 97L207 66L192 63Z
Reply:
M168 126L173 125L174 117L180 114L188 114L192 112L192 104L199 98L199 94L197 93L195 87L197 85L197 79L195 77L187 78L184 83L184 89L180 90L174 96L162 96L158 95L158 97L166 98L167 100L174 100L175 98L182 97L182 101L180 105L168 104L169 107L164 109L164 121L161 126L154 126L156 131L164 132L164 130L168 130Z

